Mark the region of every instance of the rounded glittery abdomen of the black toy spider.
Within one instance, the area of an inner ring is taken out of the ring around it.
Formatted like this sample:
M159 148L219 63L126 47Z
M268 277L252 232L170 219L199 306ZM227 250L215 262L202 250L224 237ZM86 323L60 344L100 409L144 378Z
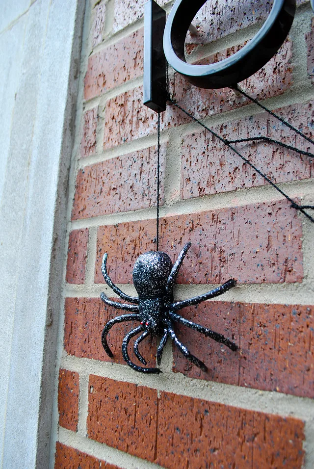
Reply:
M157 298L165 295L171 269L168 254L161 251L141 254L133 268L133 283L138 296Z

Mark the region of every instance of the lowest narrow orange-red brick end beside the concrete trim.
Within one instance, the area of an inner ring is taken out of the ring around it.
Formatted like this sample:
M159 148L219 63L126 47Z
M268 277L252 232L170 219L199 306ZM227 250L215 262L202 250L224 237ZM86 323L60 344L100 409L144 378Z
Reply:
M78 430L78 373L59 370L58 412L59 425L76 432Z

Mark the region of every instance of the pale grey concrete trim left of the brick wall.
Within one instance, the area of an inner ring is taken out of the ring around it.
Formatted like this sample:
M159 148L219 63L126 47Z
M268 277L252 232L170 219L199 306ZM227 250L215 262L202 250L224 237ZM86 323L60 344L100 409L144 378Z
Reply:
M0 467L47 468L84 2L0 17Z

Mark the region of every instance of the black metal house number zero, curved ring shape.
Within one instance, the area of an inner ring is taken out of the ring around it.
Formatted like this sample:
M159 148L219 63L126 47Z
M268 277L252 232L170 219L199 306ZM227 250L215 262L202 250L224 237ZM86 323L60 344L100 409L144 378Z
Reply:
M172 68L193 85L207 89L234 87L260 70L284 43L295 13L295 0L274 0L261 29L240 51L218 63L188 64L184 57L185 36L204 3L206 0L175 2L164 30L163 49Z

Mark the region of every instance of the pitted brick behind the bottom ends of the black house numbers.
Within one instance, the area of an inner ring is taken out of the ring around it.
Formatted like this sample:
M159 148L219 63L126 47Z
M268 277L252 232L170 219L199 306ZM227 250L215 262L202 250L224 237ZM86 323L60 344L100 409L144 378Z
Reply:
M233 49L217 53L213 61L233 53ZM241 86L254 98L266 99L283 93L292 81L291 42L286 41L278 54L260 71L241 82ZM230 111L251 104L251 101L229 88L205 90L192 86L185 78L175 74L170 80L172 98L198 119ZM190 122L190 118L174 105L168 104L161 113L161 129ZM104 148L112 148L157 132L156 112L143 105L142 86L122 93L106 102Z

